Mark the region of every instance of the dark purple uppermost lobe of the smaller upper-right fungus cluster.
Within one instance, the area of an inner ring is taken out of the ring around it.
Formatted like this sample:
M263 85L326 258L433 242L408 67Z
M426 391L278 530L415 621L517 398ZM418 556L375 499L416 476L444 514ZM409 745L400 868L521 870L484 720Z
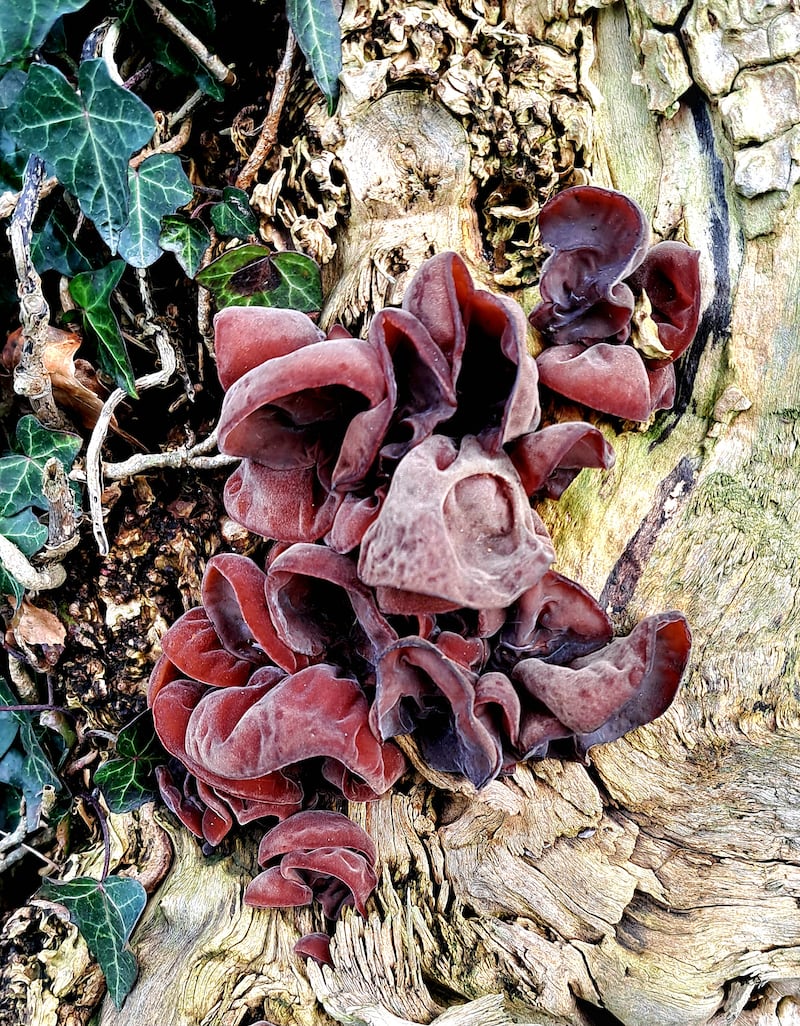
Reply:
M625 342L634 295L623 279L639 266L649 244L640 207L610 189L577 186L546 203L538 225L551 254L542 269L542 302L530 322L557 345Z

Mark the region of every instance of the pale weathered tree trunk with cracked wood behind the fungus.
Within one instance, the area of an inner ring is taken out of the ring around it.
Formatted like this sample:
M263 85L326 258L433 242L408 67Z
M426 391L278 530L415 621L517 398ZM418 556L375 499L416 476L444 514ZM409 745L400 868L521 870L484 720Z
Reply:
M417 773L352 805L383 875L332 968L291 953L315 913L243 906L252 837L208 860L163 811L114 818L115 862L142 870L167 835L174 856L102 1026L800 1022L800 14L739 6L346 3L338 117L308 111L275 210L327 261L327 320L363 327L444 248L529 307L536 213L575 182L701 250L675 408L605 425L615 468L543 511L618 631L680 608L692 662L671 710L589 765L479 793ZM85 1021L64 943L34 1026Z

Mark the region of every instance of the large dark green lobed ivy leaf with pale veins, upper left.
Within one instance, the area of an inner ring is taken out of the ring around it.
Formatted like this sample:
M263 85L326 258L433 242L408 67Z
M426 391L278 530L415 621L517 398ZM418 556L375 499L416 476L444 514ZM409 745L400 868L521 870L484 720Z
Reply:
M150 141L155 118L112 80L104 61L80 66L78 88L51 65L34 65L6 128L48 162L116 252L128 220L128 160Z

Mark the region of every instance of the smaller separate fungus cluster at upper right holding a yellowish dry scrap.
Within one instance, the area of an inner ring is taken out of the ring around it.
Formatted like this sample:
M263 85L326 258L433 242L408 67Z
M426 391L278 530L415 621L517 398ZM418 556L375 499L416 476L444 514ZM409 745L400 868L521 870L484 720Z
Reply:
M545 345L542 384L625 420L669 409L674 361L699 319L698 252L682 242L648 248L637 204L593 186L550 200L539 229L551 250L530 315Z

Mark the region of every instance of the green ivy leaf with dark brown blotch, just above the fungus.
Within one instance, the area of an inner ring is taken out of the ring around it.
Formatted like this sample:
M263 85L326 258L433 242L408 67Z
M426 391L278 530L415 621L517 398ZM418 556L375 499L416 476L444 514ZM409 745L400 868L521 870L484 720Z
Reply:
M229 249L197 275L218 307L284 307L311 313L322 308L319 267L296 252L272 253L248 243Z

